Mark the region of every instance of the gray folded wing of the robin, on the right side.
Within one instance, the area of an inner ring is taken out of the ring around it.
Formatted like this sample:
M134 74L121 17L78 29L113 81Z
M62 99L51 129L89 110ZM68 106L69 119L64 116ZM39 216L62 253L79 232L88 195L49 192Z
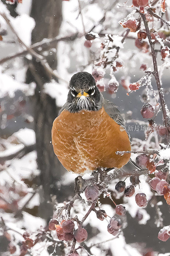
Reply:
M104 107L106 113L117 124L121 125L126 130L126 121L123 118L123 116L121 115L121 113L120 113L119 109L116 107L116 105L113 102L110 102L109 100L106 100L104 97L103 97L102 103L103 103L103 107ZM126 130L126 132L127 132L127 130ZM127 134L130 138L129 132L127 132Z

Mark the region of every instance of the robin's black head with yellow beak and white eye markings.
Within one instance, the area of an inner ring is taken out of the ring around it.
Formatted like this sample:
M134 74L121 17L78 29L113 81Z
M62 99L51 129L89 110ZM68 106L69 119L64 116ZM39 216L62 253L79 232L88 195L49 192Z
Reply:
M87 72L78 72L70 80L68 102L71 103L71 112L81 110L99 110L101 96L94 77Z

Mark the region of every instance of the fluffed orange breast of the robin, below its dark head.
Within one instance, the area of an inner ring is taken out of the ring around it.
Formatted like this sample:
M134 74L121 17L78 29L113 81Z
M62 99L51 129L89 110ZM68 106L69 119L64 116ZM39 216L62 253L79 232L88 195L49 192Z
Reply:
M53 123L55 155L68 171L79 174L98 167L121 168L130 154L120 156L115 152L131 149L129 137L122 130L103 107L78 113L64 110Z

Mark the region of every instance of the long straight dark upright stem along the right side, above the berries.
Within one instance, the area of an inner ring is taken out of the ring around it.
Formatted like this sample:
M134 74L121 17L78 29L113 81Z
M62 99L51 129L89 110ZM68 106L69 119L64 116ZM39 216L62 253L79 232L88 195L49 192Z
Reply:
M168 116L167 116L167 113L166 113L165 99L164 99L164 95L163 95L163 92L162 92L162 87L161 87L160 80L159 80L158 66L157 66L157 60L156 60L156 54L155 54L155 47L154 47L154 44L152 43L152 39L151 39L149 27L148 27L148 22L146 20L146 16L143 13L140 13L140 15L141 15L141 17L143 19L144 26L145 26L145 29L146 29L146 34L147 34L147 37L148 37L148 40L149 40L149 44L150 44L150 47L151 47L152 59L153 59L153 68L154 68L153 75L155 77L156 84L157 84L157 87L158 87L159 98L160 98L160 103L161 103L161 107L162 107L162 113L163 113L163 117L164 117L164 123L165 123L165 126L167 128ZM167 144L169 143L169 135L170 134L168 132L167 135L166 135Z

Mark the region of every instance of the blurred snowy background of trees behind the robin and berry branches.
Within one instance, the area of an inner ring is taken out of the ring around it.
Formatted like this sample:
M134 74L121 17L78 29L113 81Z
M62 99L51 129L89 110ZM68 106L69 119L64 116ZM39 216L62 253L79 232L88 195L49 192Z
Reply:
M110 67L106 68L103 78L97 81L99 89L124 114L133 150L156 148L163 140L155 132L145 140L144 130L141 129L142 125L148 125L148 121L140 114L146 100L145 86L129 96L126 94L130 91L130 83L144 76L146 68L152 69L152 56L150 52L144 53L135 46L137 33L130 32L124 43L121 43L126 29L118 22L131 12L129 8L117 8L116 4L123 4L123 1L11 2L0 1L0 13L5 13L11 24L9 26L7 20L0 16L0 214L1 228L18 244L14 255L21 255L20 235L26 230L34 232L40 226L46 227L53 216L56 202L69 200L74 194L76 175L67 172L55 156L51 128L67 99L71 76L79 71L92 73L97 70L100 73L96 62L100 59L101 44L106 41L103 39L105 34L111 34L113 45L120 47L117 61L122 67L118 67L114 73ZM160 4L159 1L156 2ZM128 4L132 4L131 0ZM167 20L169 14L170 4L167 3ZM167 26L156 19L154 22L157 31L166 31L168 34ZM152 27L152 22L149 24ZM94 41L87 41L85 34L90 31L100 36ZM25 45L32 44L37 56L32 56L26 50ZM155 48L159 50L160 45L156 44ZM43 57L42 60L39 55ZM12 57L8 58L9 56ZM158 65L161 65L159 51L157 57ZM141 68L142 65L146 68ZM165 101L169 107L168 61L159 67L159 72ZM114 78L116 90L113 86L109 87L110 80L113 82ZM158 95L154 79L152 86ZM150 90L149 94L150 103L156 105ZM163 124L161 112L155 122ZM139 129L135 126L139 126ZM135 159L135 156L132 157ZM115 242L101 244L101 241L110 239L110 236L100 236L101 239L97 239L104 226L92 226L89 220L85 226L88 230L87 244L96 244L90 247L91 253L110 256L170 255L169 243L157 238L160 227L169 225L170 215L165 200L160 196L153 196L149 186L143 183L141 188L144 193L148 193L149 203L146 209L139 210L132 203L124 202L122 195L115 193L117 181L113 181L109 189L115 202L127 204L129 210L126 220L124 219L123 235L116 238ZM128 184L129 180L126 182ZM113 215L113 203L106 198L101 198L100 201ZM1 255L9 255L11 240L5 234L2 231L0 236ZM102 252L98 248L102 248ZM53 250L54 246L46 248L43 245L43 250L35 250L32 254L44 256ZM58 249L53 255L65 253Z

